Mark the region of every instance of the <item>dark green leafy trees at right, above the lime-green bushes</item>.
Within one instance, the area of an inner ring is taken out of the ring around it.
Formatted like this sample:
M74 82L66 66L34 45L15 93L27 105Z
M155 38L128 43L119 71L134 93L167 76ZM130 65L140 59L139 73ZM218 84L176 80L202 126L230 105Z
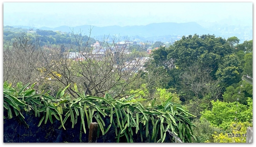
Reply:
M230 39L195 34L155 50L152 64L166 70L168 85L163 86L176 88L182 99L202 99L208 95L216 100L226 87L241 81L242 74L252 73L250 55L252 52L244 55L232 50ZM166 83L165 80L166 77L160 83Z

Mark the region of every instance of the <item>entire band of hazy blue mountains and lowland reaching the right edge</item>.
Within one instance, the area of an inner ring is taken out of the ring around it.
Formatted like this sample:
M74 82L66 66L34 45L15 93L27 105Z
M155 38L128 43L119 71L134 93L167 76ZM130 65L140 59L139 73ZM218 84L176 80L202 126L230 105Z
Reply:
M29 26L12 26L15 28L21 27L26 29L31 29ZM145 39L151 41L167 41L173 42L178 40L178 38L187 35L202 35L202 34L215 34L215 36L221 36L223 38L229 38L231 36L237 36L240 41L251 40L252 39L252 28L240 28L234 26L217 26L217 28L207 29L200 26L196 22L187 23L174 23L174 22L163 22L163 23L151 23L145 26L107 26L107 27L97 27L90 25L83 25L77 27L60 26L56 28L33 28L33 30L52 30L52 31L62 31L62 32L82 32L84 35L90 35L98 39L103 39L112 36L124 38L124 36L131 37L130 39ZM91 30L91 34L90 34ZM161 40L160 40L161 39ZM172 41L170 41L172 40ZM144 41L144 40L142 40Z

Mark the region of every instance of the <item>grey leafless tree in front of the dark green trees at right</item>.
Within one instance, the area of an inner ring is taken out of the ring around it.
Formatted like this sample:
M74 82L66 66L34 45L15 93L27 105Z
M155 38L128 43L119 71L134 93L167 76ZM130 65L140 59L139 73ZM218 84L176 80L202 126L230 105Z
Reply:
M197 117L202 111L209 109L211 100L221 97L220 81L213 80L210 76L211 69L198 64L191 65L179 76L181 78L180 91L185 97L185 105L189 112Z

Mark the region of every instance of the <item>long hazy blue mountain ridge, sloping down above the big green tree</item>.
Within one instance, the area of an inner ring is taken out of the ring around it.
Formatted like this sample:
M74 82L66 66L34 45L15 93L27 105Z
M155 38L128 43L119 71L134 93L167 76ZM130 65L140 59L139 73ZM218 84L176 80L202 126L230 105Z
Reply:
M31 27L28 26L12 26L12 27L22 27L29 29ZM164 36L164 35L194 35L194 34L213 34L214 32L203 28L196 22L188 22L188 23L174 23L174 22L164 22L164 23L151 23L146 26L108 26L108 27L97 27L90 25L83 25L77 27L69 27L69 26L60 26L56 28L34 28L41 30L60 30L62 32L79 32L86 35L89 34L89 30L91 30L91 35L99 36L99 35L120 35L120 36L142 36L142 37L153 37L153 36Z

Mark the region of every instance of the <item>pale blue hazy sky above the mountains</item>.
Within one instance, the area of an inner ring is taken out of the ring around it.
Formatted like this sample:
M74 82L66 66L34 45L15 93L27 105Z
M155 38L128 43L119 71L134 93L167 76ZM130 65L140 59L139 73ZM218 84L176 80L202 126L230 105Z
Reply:
M3 23L58 27L159 22L252 25L252 3L4 3Z

